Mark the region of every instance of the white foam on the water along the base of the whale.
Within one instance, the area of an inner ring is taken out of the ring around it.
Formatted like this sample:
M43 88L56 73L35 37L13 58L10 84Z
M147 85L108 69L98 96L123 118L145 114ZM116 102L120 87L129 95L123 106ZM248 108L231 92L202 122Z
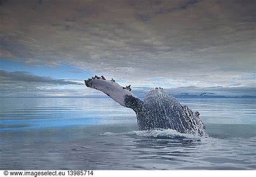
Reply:
M138 137L151 137L151 138L165 138L165 139L172 139L172 138L202 138L196 134L185 134L179 133L176 130L172 129L157 129L157 130L147 130L147 131L131 131L131 132L122 132L122 133L112 133L112 132L105 132L99 135L106 135L106 136L117 136L117 135L136 135Z

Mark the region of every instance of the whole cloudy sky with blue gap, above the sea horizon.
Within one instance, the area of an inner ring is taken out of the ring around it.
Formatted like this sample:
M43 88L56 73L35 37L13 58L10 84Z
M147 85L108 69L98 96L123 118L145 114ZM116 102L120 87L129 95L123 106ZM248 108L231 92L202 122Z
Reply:
M0 0L2 96L142 93L255 96L256 1Z

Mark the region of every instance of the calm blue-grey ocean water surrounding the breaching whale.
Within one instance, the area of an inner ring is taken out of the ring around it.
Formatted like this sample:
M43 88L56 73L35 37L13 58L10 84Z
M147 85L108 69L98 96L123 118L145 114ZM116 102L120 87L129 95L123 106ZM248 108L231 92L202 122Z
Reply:
M256 169L255 99L178 98L208 138L137 131L110 98L1 98L0 169Z

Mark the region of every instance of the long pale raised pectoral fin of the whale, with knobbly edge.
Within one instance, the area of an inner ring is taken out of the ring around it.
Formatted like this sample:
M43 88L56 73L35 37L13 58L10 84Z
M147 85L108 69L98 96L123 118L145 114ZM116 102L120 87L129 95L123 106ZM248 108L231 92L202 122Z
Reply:
M114 79L106 80L104 76L95 76L91 79L84 80L84 82L87 87L104 92L120 105L132 108L136 113L142 107L143 101L134 96L131 92L130 85L122 87Z

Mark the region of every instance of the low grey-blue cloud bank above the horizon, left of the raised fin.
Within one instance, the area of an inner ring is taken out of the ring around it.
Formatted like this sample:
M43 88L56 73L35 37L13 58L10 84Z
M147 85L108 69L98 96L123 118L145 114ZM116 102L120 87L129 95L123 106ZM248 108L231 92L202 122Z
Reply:
M93 91L85 90L83 81L35 76L28 72L0 70L1 97L8 96L84 96Z

